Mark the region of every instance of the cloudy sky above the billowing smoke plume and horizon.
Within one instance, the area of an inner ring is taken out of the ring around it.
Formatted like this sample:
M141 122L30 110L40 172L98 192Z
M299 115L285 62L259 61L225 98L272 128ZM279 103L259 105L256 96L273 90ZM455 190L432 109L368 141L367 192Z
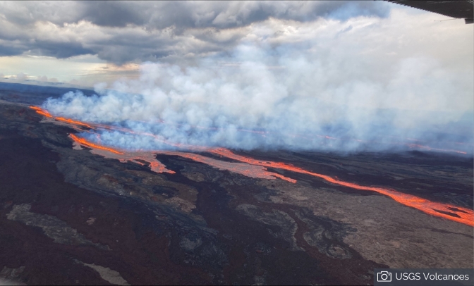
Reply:
M384 1L1 1L0 73L92 86L145 61L192 64L248 42L308 51L343 33L377 56L472 70L473 25L447 19Z

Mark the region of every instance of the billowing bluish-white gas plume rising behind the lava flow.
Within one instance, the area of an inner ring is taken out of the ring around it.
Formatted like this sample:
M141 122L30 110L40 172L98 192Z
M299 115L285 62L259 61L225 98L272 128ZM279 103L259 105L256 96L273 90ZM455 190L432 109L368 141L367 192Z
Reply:
M248 43L195 66L145 63L138 80L97 85L93 97L69 92L43 107L56 116L131 128L135 134L104 130L100 137L128 149L174 148L165 139L342 152L421 144L472 154L473 113L463 106L473 89L468 75L430 57L394 60L377 51L360 56L357 46L331 49Z

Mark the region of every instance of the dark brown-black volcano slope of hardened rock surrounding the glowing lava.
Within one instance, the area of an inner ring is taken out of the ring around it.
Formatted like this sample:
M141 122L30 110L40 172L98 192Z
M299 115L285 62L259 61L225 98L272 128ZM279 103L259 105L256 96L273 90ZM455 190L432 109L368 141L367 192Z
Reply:
M282 180L226 170L219 166L237 162L212 152L200 161L158 153L170 171L157 173L146 160L121 162L80 145L73 126L53 121L0 102L7 282L367 285L374 268L473 268L466 223L304 173L267 168L291 178ZM449 204L438 211L454 218L473 209L473 158L234 154Z

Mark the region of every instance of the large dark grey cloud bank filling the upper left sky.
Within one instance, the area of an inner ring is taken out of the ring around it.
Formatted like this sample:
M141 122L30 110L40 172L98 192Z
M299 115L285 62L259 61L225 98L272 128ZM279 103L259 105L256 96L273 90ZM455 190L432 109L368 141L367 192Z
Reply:
M245 36L242 29L269 18L344 21L359 15L387 17L389 9L379 1L2 2L1 55L97 54L117 64L199 56L231 49ZM78 28L84 23L92 25Z

